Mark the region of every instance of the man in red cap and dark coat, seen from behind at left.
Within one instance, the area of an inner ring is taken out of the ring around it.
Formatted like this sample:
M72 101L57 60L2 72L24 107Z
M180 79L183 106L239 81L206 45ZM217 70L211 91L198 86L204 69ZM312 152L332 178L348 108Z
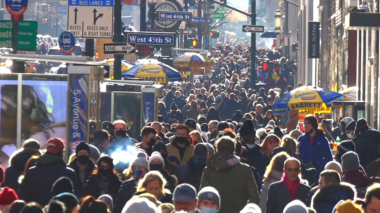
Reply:
M53 197L51 188L61 177L68 177L75 185L76 175L68 168L63 158L63 141L51 138L46 144L46 153L41 155L36 166L28 169L20 185L19 199L25 202L37 202L41 206L49 203Z

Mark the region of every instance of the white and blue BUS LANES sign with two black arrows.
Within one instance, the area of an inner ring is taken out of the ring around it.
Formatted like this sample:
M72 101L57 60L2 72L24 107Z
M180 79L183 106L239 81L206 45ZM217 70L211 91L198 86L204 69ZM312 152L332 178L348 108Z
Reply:
M75 37L112 38L114 0L69 0L68 26Z

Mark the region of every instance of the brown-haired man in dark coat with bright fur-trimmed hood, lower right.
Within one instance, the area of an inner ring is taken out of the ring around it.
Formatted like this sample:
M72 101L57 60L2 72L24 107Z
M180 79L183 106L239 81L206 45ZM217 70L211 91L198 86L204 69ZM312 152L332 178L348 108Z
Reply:
M325 170L319 175L319 190L312 197L311 207L319 212L332 212L340 200L354 200L354 185L340 182L340 175L334 170Z

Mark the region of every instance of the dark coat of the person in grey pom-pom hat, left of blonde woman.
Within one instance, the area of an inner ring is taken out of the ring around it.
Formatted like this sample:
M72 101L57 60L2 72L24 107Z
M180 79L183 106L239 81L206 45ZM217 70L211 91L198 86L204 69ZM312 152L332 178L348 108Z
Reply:
M136 186L135 179L133 178L126 180L121 184L120 189L117 192L116 200L114 200L113 213L121 213L127 201L136 193Z

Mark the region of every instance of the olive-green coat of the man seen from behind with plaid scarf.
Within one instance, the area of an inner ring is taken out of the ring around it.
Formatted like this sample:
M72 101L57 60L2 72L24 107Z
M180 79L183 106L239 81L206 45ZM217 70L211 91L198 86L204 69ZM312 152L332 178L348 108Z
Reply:
M221 200L218 213L239 213L247 201L259 203L258 190L250 167L237 156L229 159L225 156L218 152L207 159L199 190L206 186L218 190Z

